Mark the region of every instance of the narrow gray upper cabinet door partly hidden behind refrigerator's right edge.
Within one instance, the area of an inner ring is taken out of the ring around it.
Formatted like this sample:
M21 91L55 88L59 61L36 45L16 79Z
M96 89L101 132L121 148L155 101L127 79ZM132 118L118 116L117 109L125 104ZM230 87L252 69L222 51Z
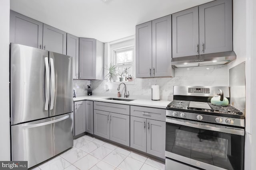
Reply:
M73 79L78 79L79 38L67 33L67 55L73 57Z

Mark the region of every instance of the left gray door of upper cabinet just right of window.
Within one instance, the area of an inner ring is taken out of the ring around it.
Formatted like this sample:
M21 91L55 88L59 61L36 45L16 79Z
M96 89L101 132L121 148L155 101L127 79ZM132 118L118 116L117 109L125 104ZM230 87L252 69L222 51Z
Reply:
M136 25L136 77L152 76L152 22Z

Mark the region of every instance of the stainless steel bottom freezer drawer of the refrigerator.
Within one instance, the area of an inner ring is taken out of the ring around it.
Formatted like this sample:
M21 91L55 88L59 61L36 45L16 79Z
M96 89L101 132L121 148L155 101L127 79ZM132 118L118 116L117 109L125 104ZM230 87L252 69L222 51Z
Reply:
M12 125L12 160L28 168L73 146L73 113Z

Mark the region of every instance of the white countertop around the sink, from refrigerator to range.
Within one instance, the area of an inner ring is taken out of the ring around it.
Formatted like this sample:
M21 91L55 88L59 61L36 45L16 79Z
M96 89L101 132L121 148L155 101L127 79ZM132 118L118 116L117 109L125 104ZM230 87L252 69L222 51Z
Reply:
M134 106L146 106L146 107L157 107L161 109L165 109L166 106L171 102L168 100L160 100L160 101L152 101L151 99L134 99L130 102L120 101L120 100L107 100L107 98L112 98L111 96L77 96L73 98L74 102L80 100L93 100L98 102L108 102L108 103L116 103L116 104L128 104ZM116 97L113 97L116 98ZM133 98L126 98L133 99Z

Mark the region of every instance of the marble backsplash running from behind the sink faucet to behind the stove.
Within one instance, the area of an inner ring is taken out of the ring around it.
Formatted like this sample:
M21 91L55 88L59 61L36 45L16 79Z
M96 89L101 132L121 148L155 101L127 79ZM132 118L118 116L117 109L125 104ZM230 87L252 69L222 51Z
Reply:
M151 85L155 84L160 86L160 100L170 101L173 99L173 86L228 86L226 65L176 68L174 73L174 77L171 78L135 78L134 82L124 82L130 93L129 98L151 99ZM119 83L91 80L92 95L117 97ZM106 91L106 84L108 91ZM123 85L121 85L120 93L123 97Z

